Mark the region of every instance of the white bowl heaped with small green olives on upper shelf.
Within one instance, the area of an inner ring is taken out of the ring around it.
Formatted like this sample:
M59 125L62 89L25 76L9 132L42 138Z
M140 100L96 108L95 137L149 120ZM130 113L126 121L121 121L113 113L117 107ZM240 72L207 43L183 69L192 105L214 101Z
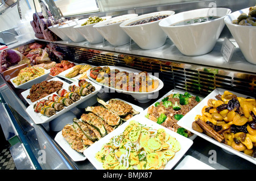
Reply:
M112 16L105 16L105 17L101 17L102 19L110 19L112 18ZM84 36L84 38L89 41L89 43L91 44L96 44L96 43L101 43L103 41L103 37L102 35L93 27L95 24L88 24L85 26L82 26L80 24L77 24L74 28L76 31L80 32L82 36Z

